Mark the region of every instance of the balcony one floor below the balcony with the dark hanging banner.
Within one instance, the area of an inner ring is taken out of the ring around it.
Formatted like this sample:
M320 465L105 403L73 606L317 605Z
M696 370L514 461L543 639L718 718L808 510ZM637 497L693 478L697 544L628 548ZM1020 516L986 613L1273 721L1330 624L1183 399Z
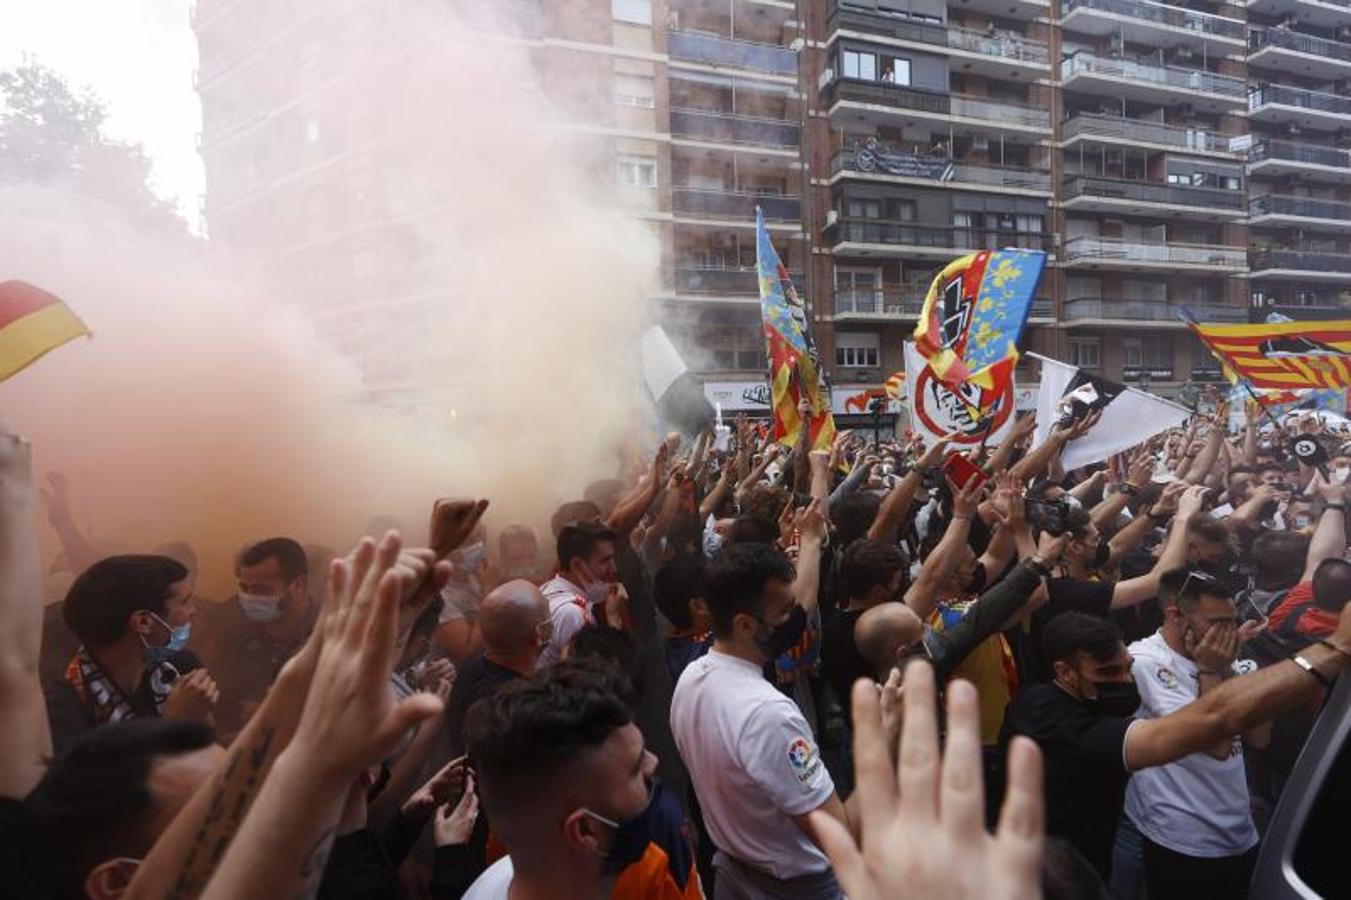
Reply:
M825 226L825 243L850 255L904 255L943 261L957 255L954 251L963 250L1054 249L1051 235L1040 231L944 228L880 219L836 219Z

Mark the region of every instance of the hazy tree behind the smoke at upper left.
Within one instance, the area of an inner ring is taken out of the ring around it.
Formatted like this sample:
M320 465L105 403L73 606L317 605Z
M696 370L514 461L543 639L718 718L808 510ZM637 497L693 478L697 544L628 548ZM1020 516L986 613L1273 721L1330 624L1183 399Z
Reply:
M72 92L41 64L0 72L0 184L65 188L145 224L185 230L173 204L151 191L142 146L103 132L107 115L91 91Z

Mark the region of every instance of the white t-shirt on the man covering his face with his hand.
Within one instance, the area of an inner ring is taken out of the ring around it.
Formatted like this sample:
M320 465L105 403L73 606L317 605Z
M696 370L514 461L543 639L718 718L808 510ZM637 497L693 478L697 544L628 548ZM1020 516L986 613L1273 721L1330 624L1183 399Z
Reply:
M1162 634L1131 645L1131 673L1140 689L1138 719L1158 719L1200 696L1196 664L1174 653ZM1233 672L1256 669L1239 659ZM1189 857L1233 857L1258 842L1243 770L1243 738L1235 735L1227 759L1193 753L1140 769L1125 789L1125 812L1154 843Z

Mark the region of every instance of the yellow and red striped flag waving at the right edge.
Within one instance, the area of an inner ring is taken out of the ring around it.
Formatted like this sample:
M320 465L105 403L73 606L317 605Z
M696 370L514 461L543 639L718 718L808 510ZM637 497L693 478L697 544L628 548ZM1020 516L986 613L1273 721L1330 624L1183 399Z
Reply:
M1186 319L1197 338L1254 388L1351 385L1351 319L1204 324Z

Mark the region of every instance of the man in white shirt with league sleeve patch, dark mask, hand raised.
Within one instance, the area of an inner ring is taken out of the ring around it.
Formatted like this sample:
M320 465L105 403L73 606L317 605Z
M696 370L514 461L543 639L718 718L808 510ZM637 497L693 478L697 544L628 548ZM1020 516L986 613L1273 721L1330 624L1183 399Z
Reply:
M812 520L798 555L807 584L824 538L824 522ZM676 745L719 847L715 900L840 896L808 814L848 824L844 805L801 711L763 676L775 630L794 620L793 588L777 547L732 545L713 559L704 595L713 647L686 666L671 699Z

